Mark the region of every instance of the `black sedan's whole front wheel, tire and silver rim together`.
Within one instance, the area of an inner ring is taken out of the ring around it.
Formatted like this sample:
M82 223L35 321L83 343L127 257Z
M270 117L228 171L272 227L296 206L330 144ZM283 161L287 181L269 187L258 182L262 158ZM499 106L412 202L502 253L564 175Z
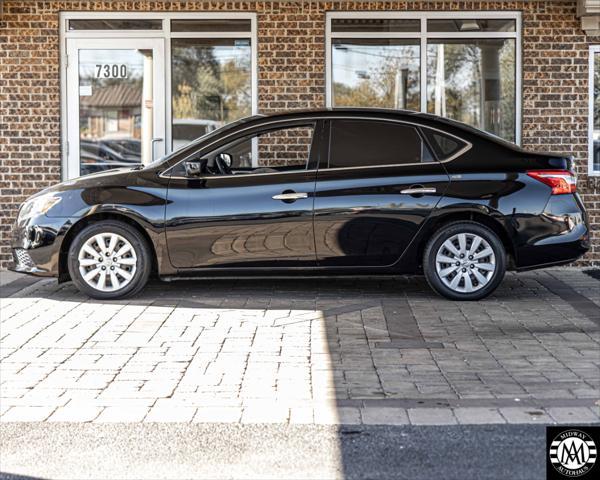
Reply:
M75 286L98 299L138 293L150 276L151 256L134 228L108 220L85 227L69 248L69 273Z

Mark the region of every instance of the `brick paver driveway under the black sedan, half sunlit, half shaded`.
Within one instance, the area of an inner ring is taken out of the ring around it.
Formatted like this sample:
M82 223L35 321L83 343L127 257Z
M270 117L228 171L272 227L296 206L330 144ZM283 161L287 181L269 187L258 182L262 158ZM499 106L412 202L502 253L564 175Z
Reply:
M582 270L510 274L472 303L417 277L156 281L113 302L22 286L3 287L2 421L600 419L600 281Z

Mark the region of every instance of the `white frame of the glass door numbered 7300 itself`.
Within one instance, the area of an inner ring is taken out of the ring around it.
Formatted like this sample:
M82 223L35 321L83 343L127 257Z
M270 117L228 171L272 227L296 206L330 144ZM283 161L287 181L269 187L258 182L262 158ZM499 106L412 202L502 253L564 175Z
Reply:
M77 85L79 89L79 50L152 50L152 141L151 158L160 158L165 154L165 79L164 72L164 41L160 38L70 38L66 42L67 66L66 88ZM66 178L80 175L79 158L79 99L80 95L66 98ZM144 107L142 107L144 108Z

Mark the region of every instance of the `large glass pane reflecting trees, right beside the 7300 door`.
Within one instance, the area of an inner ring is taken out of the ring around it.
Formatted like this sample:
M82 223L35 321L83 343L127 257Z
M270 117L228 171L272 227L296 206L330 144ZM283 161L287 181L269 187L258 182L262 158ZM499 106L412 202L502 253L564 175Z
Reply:
M218 50L198 45L174 48L174 118L227 123L250 115L250 47Z

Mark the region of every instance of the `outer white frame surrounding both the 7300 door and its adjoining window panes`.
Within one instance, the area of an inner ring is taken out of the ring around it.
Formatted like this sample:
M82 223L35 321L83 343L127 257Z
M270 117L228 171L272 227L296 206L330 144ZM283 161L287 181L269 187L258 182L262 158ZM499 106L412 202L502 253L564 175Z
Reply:
M164 41L165 71L165 152L172 151L171 39L172 38L250 38L252 115L258 113L258 35L253 12L60 12L60 112L61 178L68 174L67 129L67 39L160 38ZM118 19L162 20L162 30L68 30L69 20ZM171 32L171 20L250 20L249 32ZM72 93L71 93L72 94Z

